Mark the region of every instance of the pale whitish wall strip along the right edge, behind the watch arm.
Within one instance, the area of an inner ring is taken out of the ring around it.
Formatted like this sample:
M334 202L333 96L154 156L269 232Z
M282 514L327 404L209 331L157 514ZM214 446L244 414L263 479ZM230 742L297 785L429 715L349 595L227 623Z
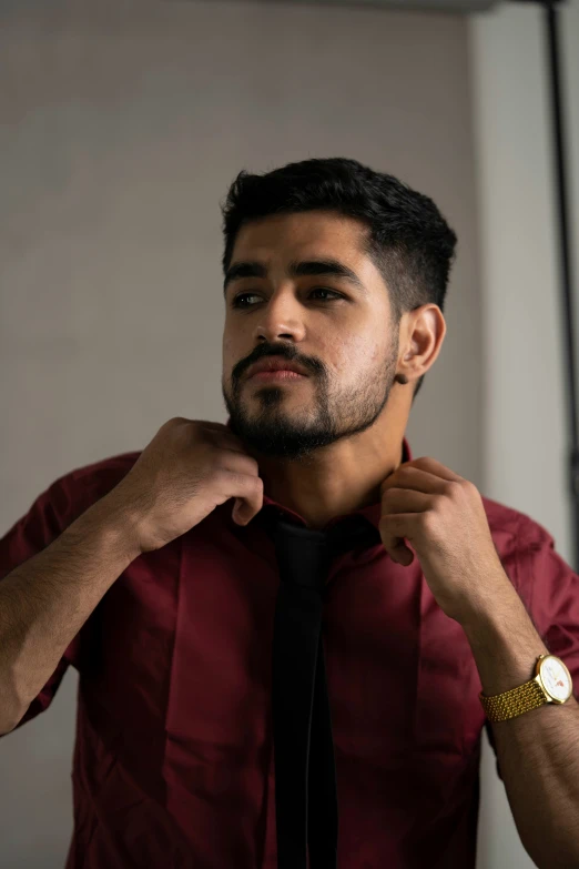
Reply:
M579 0L562 3L559 14L570 253L579 277ZM544 23L538 3L505 3L469 26L484 303L484 479L489 497L541 523L553 536L557 552L572 565L578 529L570 524L568 496L559 240ZM576 314L579 335L579 310ZM579 347L576 353L579 358ZM512 823L486 739L478 858L485 869L535 867Z

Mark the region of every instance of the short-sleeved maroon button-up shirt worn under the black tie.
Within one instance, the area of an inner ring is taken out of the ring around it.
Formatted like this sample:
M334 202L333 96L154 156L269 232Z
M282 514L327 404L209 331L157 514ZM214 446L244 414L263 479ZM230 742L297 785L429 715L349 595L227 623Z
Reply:
M404 447L410 461L406 439ZM138 456L78 468L39 495L0 540L0 577L110 492ZM504 567L577 695L579 577L542 526L484 503ZM305 525L267 496L264 505ZM280 578L265 529L235 525L232 507L132 562L19 724L47 709L72 664L80 681L67 869L276 867ZM357 513L378 527L379 504ZM328 583L339 869L474 868L486 719L463 628L437 605L418 559L403 567L382 545L337 557Z

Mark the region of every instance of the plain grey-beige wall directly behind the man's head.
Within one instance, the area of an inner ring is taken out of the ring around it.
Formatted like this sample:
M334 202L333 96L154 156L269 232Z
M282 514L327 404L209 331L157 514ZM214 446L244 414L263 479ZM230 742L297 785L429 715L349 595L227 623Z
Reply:
M353 156L431 195L459 234L416 456L482 486L467 26L274 3L1 7L0 533L57 476L225 422L221 214L241 169ZM70 6L70 8L68 8ZM12 10L12 11L10 11ZM0 740L0 862L59 869L77 674Z

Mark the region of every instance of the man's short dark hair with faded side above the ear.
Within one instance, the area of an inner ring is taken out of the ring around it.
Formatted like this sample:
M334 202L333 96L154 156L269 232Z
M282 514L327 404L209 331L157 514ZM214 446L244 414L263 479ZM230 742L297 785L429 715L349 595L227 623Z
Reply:
M221 210L224 273L243 224L270 214L333 211L369 229L365 252L389 287L395 325L404 312L429 302L444 310L457 238L431 199L394 175L342 156L288 163L263 175L242 171Z

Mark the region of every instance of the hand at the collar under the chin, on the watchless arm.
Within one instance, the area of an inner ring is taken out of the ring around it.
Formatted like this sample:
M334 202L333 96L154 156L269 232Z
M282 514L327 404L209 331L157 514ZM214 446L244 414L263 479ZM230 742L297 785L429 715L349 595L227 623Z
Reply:
M246 525L262 508L258 465L226 425L175 416L106 496L131 517L141 553L165 546L235 498Z

